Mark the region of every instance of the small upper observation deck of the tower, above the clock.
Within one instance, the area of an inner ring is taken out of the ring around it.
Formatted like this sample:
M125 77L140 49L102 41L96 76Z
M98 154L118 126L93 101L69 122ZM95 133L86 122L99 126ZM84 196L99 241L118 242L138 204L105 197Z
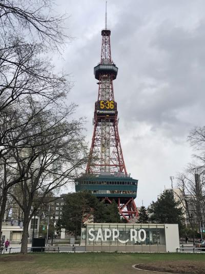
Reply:
M109 64L106 61L104 61L103 64L100 63L96 67L94 67L94 76L95 79L99 80L99 76L101 74L110 74L113 76L113 80L115 80L117 77L117 71L118 67L116 67L114 63Z

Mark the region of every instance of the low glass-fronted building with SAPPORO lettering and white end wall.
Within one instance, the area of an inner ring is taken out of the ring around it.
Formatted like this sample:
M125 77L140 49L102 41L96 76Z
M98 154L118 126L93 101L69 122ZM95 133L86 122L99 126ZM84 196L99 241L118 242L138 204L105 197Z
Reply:
M81 228L86 251L176 252L177 224L87 224Z

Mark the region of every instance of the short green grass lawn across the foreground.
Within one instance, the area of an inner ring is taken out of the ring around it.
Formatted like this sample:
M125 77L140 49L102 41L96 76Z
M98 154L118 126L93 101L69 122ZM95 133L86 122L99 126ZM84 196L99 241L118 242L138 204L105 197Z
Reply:
M2 261L8 260L8 261ZM133 264L153 261L205 260L193 253L29 253L0 255L1 273L124 274L136 273Z

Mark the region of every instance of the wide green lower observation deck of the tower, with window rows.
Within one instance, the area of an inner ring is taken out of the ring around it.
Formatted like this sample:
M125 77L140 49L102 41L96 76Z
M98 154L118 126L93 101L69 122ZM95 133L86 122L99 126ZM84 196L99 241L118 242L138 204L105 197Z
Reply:
M76 192L85 191L95 195L99 199L129 199L137 196L138 180L124 174L103 174L98 176L80 177L76 180Z

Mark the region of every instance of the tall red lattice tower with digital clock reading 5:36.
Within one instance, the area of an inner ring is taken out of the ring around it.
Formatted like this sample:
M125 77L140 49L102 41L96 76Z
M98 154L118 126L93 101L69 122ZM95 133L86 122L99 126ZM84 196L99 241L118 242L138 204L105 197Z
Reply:
M106 203L115 201L120 215L129 222L138 215L134 202L138 180L128 176L120 145L113 89L118 68L111 59L110 34L106 7L106 27L101 31L101 60L94 67L98 97L95 102L92 144L86 174L78 178L75 189L76 192L90 192Z

